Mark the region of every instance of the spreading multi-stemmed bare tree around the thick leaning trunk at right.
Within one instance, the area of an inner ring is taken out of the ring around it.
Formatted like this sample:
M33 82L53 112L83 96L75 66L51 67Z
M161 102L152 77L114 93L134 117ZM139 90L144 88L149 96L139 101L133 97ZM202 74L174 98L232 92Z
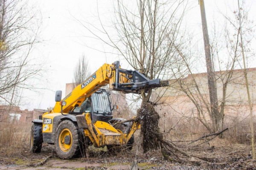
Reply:
M244 7L242 8L244 9ZM253 56L253 51L250 50L250 42L253 40L253 26L248 20L247 14L244 11L243 17L241 18L241 24L245 26L247 31L244 31L244 37L246 37L247 45L247 57ZM227 105L238 105L243 103L244 99L232 98L232 93L236 90L235 86L237 83L242 84L241 77L242 74L235 74L234 71L237 68L241 68L242 65L242 50L241 50L241 40L240 28L239 28L239 16L238 12L233 11L233 18L223 15L225 18L224 26L221 27L221 31L213 27L212 42L209 46L210 52L212 54L213 62L213 73L215 74L215 83L218 83L218 101L217 115L212 112L212 103L209 99L209 89L206 88L207 77L198 74L193 74L193 65L195 65L194 55L189 51L194 51L188 48L177 48L179 55L182 59L183 65L186 66L189 77L185 79L179 79L173 85L177 91L181 91L181 94L185 94L192 104L195 106L196 116L198 120L207 128L210 133L217 132L224 129L224 118L225 110ZM189 45L187 45L189 47ZM241 87L241 86L239 86ZM241 87L242 88L242 87ZM237 91L235 91L237 93ZM211 123L209 123L209 118Z

